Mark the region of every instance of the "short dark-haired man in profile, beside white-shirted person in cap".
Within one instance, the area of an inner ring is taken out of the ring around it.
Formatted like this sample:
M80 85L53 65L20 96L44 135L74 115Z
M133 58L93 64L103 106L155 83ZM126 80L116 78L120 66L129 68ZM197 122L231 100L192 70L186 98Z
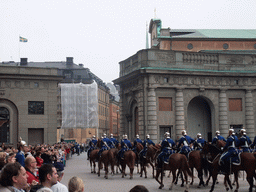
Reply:
M41 185L35 185L31 188L30 192L36 192L38 189L49 189L57 183L57 171L52 164L43 164L39 168L39 181Z

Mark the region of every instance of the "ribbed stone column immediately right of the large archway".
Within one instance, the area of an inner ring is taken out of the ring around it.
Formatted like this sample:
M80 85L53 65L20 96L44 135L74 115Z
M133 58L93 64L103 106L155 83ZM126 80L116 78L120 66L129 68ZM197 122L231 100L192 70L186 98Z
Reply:
M228 136L228 106L226 90L221 89L219 95L219 129L222 136Z

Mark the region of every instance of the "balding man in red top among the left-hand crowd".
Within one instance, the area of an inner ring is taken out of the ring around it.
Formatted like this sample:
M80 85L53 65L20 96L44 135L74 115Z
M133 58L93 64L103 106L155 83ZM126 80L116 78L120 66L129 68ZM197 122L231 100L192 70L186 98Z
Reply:
M25 169L28 175L28 184L36 185L39 182L39 178L36 176L36 159L33 156L27 156L25 159Z

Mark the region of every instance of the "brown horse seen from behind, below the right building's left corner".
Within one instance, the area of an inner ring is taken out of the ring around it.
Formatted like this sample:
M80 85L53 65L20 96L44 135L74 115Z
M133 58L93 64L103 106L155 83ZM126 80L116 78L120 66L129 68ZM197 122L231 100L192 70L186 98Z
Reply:
M132 150L124 152L124 159L121 159L120 161L120 164L122 167L122 178L124 178L124 175L125 175L126 165L130 168L130 179L133 178L135 159L136 159L136 154Z

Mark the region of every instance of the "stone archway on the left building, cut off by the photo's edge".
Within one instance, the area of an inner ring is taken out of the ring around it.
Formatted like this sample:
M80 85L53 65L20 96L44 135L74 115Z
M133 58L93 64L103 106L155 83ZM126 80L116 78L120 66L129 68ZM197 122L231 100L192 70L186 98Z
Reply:
M8 121L2 125L2 131L6 133L6 144L13 144L15 147L18 142L18 109L7 99L0 99L0 109L2 109L2 119ZM7 114L8 111L8 114Z

